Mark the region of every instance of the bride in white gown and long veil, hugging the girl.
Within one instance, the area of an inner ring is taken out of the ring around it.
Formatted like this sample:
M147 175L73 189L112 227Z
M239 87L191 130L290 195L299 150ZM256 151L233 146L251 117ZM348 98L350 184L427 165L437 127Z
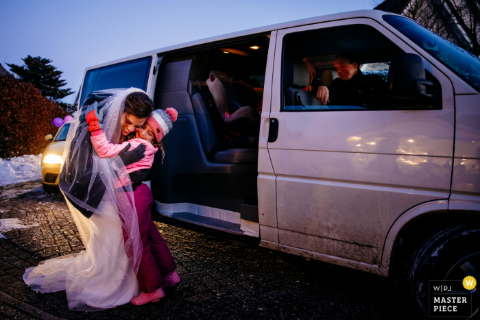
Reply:
M151 105L127 99L136 92L143 93L136 88L96 93L107 97L99 103L99 113L104 115L103 131L110 142L121 142L151 114ZM64 149L60 189L86 249L40 262L23 275L36 292L66 291L70 310L114 308L140 294L136 273L142 244L125 165L143 158L143 150L127 150L122 156L99 158L90 143L84 112L77 112ZM124 241L124 234L128 240Z

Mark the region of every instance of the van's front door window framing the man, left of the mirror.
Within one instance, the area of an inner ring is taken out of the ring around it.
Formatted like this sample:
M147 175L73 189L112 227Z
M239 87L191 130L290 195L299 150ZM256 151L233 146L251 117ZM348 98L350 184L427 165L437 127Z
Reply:
M385 110L392 56L402 52L367 25L298 32L283 42L284 111Z

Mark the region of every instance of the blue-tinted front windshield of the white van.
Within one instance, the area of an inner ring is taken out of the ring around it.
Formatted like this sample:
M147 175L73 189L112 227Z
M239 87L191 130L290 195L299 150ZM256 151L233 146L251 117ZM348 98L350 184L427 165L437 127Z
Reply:
M422 47L477 91L480 91L480 60L465 49L457 47L437 34L425 29L415 21L402 16L383 16L389 25L398 29L407 38Z

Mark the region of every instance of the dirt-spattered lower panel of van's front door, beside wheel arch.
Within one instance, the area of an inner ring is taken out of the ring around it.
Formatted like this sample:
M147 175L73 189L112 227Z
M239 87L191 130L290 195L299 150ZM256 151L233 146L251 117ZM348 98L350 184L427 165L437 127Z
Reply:
M422 202L448 198L448 191L441 193L280 175L276 186L279 230L372 248L383 247L389 228L409 208ZM355 254L355 251L351 253Z

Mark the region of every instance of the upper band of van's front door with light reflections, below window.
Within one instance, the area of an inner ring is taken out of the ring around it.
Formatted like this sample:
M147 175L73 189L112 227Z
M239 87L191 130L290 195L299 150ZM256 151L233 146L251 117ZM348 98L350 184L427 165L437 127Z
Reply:
M271 116L278 119L279 130L269 149L453 156L453 110L275 112Z

